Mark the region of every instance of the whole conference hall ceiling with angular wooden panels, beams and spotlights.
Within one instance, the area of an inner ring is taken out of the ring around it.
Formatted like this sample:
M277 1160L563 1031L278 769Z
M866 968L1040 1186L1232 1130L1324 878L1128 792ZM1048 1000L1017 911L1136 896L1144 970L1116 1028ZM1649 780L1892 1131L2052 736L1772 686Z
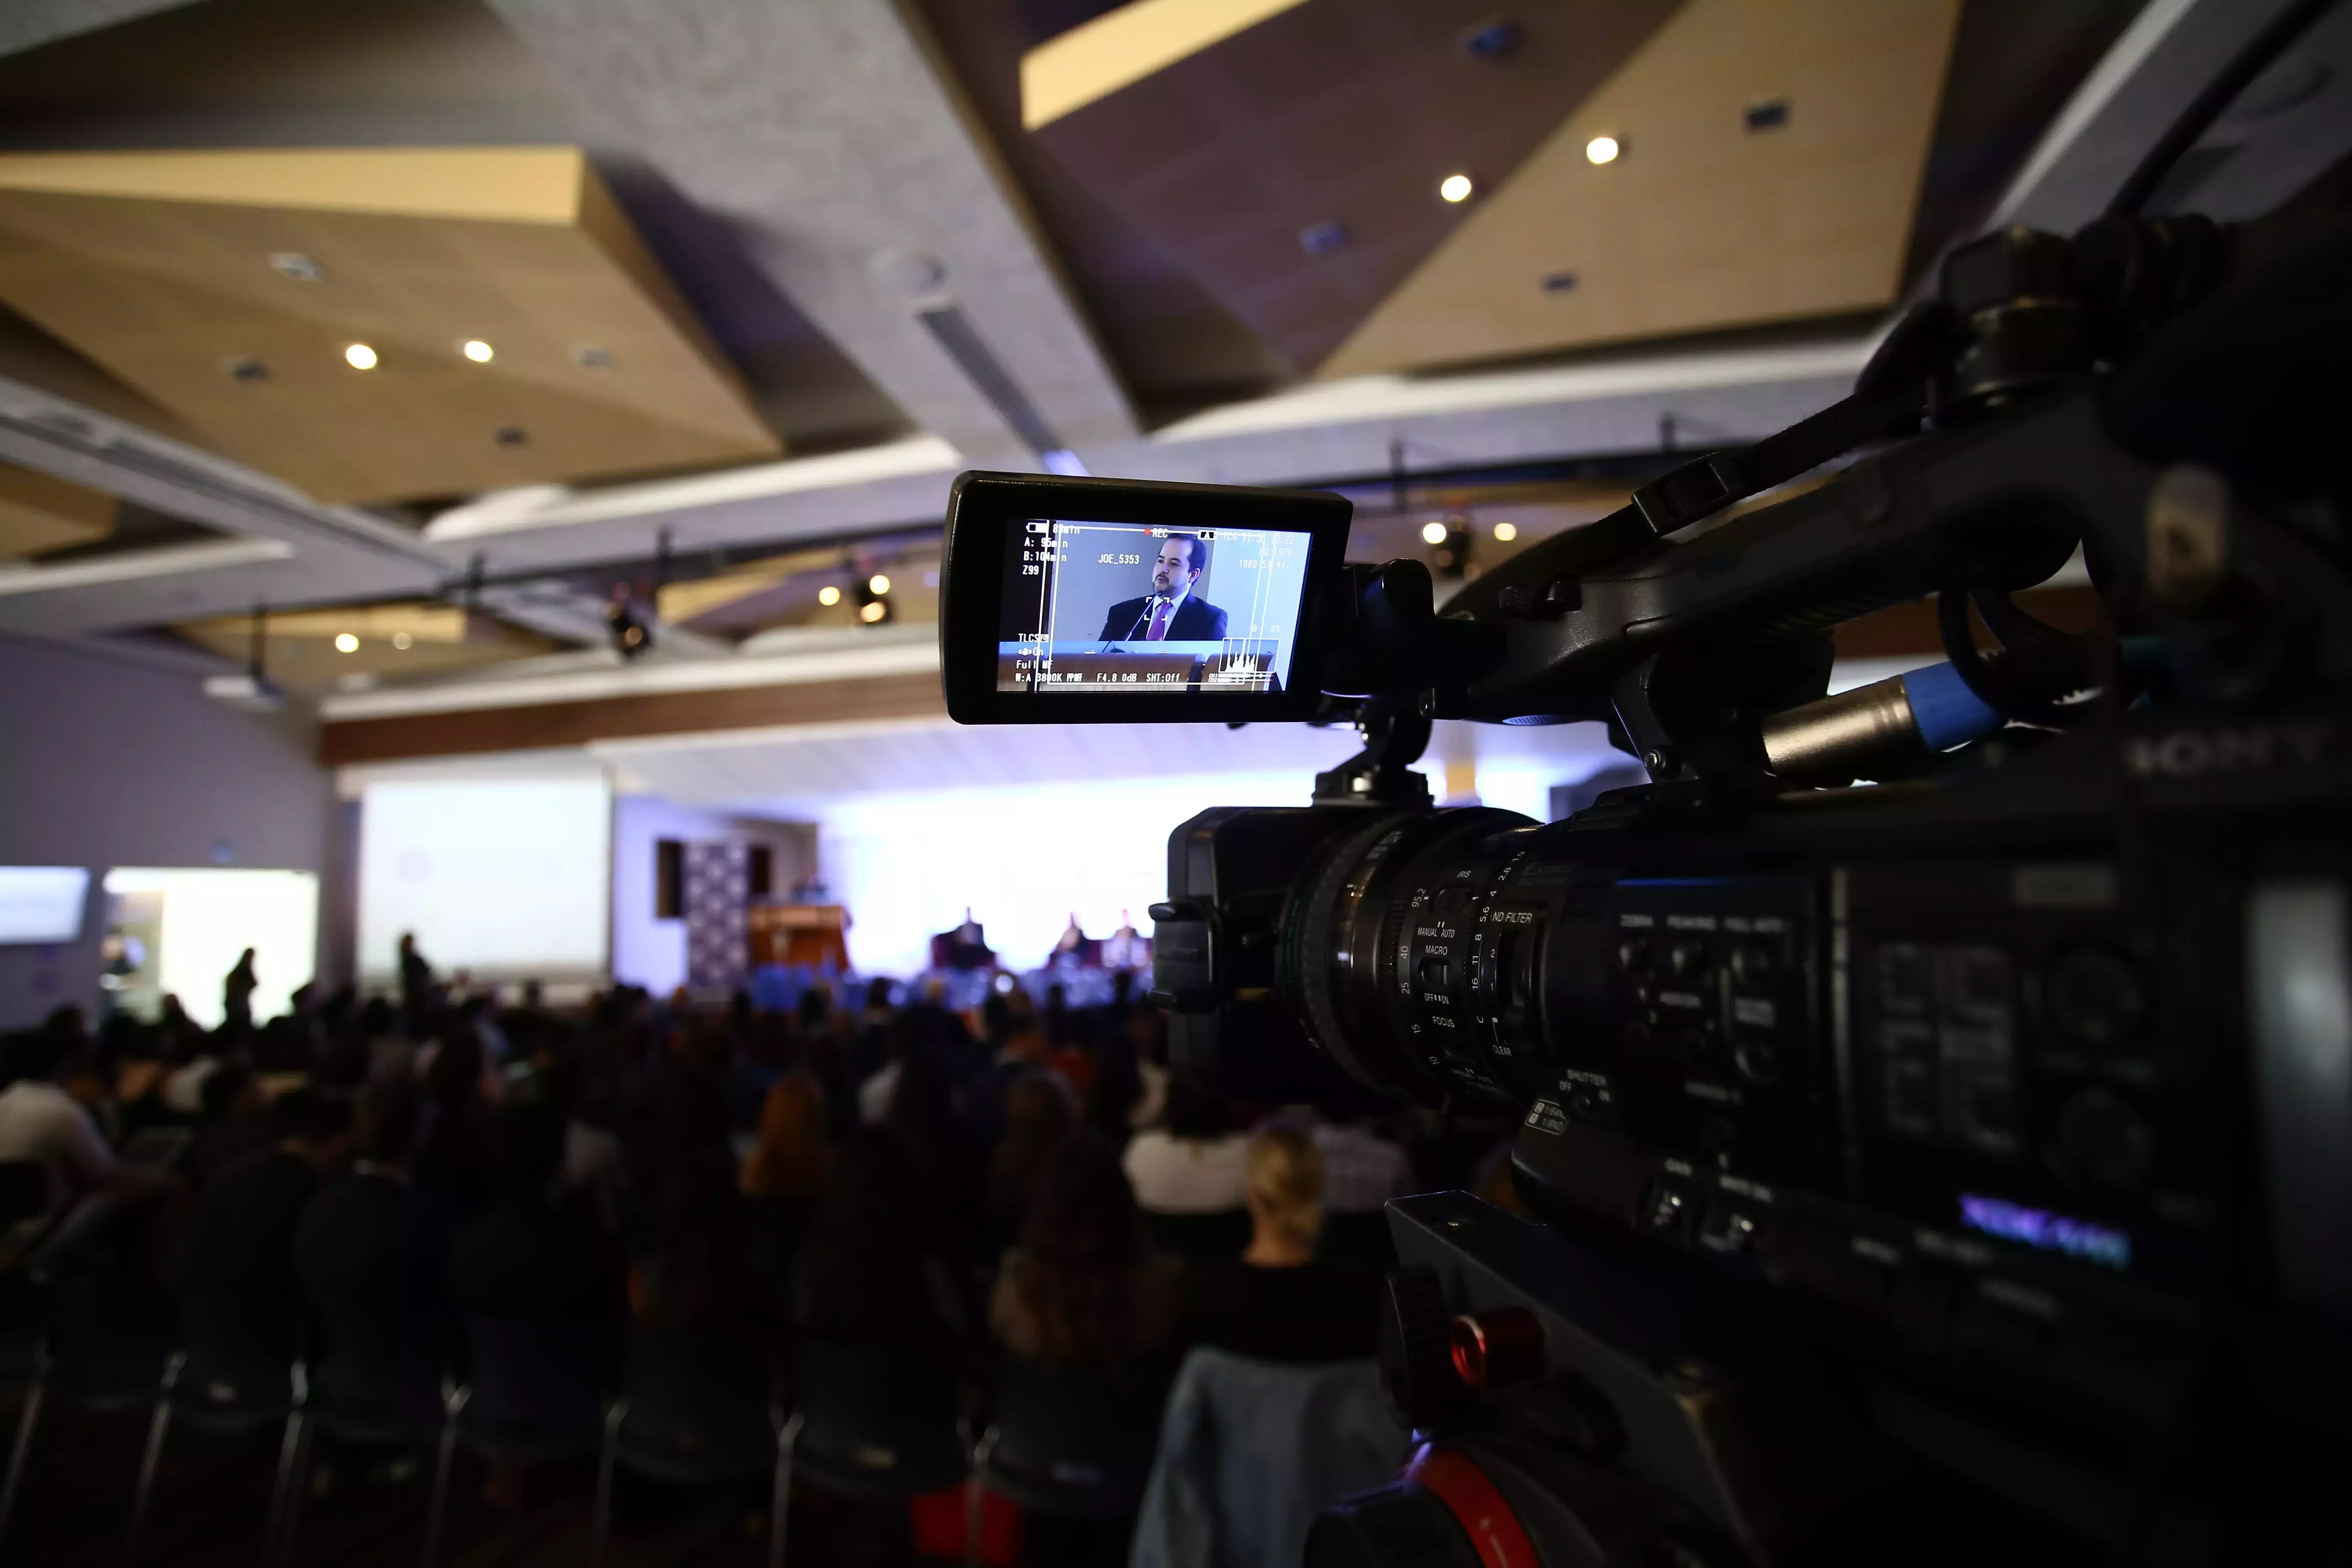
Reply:
M38 0L0 635L233 668L259 604L289 686L426 691L609 663L619 590L656 665L896 649L974 465L1341 484L1355 555L1477 574L1837 397L1955 237L2067 209L2133 71L2251 26L2159 21ZM2286 75L2218 134L2336 101Z

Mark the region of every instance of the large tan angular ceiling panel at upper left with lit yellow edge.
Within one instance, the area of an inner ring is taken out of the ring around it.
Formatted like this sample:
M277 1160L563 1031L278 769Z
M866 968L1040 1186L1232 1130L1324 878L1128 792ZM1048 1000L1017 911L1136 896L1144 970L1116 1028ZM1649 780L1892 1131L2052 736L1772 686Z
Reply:
M322 501L779 451L569 148L0 158L0 299Z

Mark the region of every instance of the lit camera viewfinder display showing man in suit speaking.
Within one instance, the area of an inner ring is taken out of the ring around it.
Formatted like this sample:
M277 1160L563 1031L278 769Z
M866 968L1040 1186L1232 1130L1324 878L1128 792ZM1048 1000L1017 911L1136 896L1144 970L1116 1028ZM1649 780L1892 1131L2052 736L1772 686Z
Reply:
M1310 534L1011 517L997 691L1282 693Z

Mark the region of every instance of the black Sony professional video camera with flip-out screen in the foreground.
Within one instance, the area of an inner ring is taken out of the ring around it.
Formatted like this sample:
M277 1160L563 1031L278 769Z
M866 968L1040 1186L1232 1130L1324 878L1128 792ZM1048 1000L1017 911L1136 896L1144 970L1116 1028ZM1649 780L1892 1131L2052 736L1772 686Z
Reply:
M1425 1446L1312 1563L2340 1540L2347 190L1976 240L1851 397L1442 614L1338 496L957 482L957 719L1364 731L1169 839L1178 1070L1524 1112L1548 1225L1390 1206ZM2011 595L2077 548L2070 635ZM1945 665L1825 696L1929 595ZM1599 719L1651 783L1432 809L1439 717Z

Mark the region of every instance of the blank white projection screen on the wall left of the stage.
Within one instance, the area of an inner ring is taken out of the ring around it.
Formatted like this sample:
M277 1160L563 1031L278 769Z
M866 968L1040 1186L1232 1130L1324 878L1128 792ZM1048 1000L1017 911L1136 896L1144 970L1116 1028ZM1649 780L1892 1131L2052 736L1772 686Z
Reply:
M612 790L600 778L369 783L360 797L360 978L397 976L402 931L447 978L604 971Z

